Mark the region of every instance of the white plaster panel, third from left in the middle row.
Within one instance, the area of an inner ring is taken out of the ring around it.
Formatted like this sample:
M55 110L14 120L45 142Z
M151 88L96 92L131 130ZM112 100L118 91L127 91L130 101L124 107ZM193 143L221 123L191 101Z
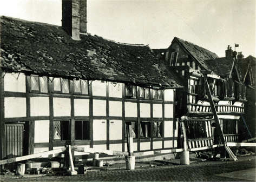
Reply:
M69 98L53 98L54 116L70 116L71 105Z

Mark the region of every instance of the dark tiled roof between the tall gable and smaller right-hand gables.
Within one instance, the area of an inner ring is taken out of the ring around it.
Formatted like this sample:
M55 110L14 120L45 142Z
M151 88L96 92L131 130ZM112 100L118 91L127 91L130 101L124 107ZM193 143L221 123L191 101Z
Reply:
M205 60L204 62L208 66L208 68L211 68L211 70L214 73L225 78L225 77L229 77L233 69L234 58L222 57L222 58Z

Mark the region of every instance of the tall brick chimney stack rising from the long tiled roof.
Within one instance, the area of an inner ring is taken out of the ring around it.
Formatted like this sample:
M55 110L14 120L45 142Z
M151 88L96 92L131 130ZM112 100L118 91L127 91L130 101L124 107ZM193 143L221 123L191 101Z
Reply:
M87 32L87 0L62 0L62 27L74 40Z

